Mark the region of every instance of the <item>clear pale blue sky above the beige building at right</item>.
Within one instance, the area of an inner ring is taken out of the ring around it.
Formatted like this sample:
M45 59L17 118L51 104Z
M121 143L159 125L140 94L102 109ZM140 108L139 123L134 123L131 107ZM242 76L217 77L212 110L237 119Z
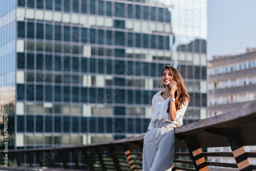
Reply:
M208 0L207 59L256 48L255 0Z

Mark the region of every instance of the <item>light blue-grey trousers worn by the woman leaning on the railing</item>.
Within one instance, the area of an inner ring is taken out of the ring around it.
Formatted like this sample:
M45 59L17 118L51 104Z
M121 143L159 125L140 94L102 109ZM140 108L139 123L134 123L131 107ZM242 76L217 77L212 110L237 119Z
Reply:
M172 170L175 155L175 129L154 127L144 136L142 168L143 171Z

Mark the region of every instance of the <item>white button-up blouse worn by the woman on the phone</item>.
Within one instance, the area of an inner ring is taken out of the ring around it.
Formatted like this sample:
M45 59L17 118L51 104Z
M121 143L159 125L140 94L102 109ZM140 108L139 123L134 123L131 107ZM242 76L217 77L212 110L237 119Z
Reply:
M153 125L157 120L163 120L163 122L174 123L176 124L176 126L181 126L183 124L182 118L187 109L187 102L185 102L185 105L182 104L182 108L177 112L175 120L171 121L169 118L169 114L166 112L170 97L164 100L163 97L161 96L162 92L164 91L158 92L152 98L152 118L147 130L152 130Z

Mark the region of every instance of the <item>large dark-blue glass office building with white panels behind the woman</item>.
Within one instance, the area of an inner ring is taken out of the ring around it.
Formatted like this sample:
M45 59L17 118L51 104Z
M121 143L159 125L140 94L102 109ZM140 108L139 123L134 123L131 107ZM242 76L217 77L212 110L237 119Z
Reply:
M0 5L0 124L8 113L13 148L142 135L165 65L188 86L184 124L206 112L206 41L174 33L179 12L151 0Z

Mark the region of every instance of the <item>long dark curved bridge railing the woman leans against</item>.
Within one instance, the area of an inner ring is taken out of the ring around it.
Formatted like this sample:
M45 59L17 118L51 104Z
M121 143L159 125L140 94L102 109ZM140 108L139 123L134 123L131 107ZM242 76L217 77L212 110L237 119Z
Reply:
M176 155L173 170L255 170L244 146L256 145L256 101L237 110L199 120L175 129ZM103 143L8 151L11 170L141 170L143 136ZM209 147L229 147L230 152L207 152ZM254 147L255 148L255 147ZM4 151L0 151L1 161ZM232 158L233 163L209 161Z

